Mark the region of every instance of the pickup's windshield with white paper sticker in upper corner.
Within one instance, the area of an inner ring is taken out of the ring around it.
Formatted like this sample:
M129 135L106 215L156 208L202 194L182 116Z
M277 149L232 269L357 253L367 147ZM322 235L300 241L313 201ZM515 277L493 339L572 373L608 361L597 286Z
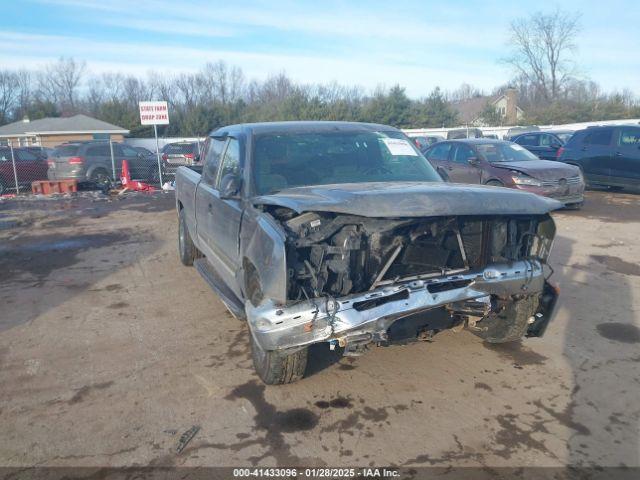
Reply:
M401 132L264 134L255 139L259 195L290 187L364 182L441 182Z

